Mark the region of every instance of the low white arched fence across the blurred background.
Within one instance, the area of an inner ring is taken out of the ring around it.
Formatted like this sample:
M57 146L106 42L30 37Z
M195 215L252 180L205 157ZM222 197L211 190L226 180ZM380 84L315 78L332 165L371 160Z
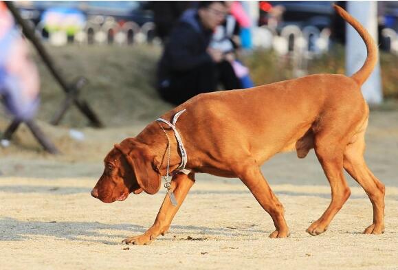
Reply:
M45 28L43 23L36 25L36 34L44 38ZM47 40L52 45L62 46L68 42L66 32L47 33ZM252 37L254 47L274 49L283 56L300 56L302 65L305 59L311 59L328 52L331 31L324 28L322 31L317 27L307 26L300 30L296 25L283 27L280 34L265 25L253 29ZM382 38L386 41L386 47L393 54L398 54L398 34L395 30L385 28L382 30ZM127 21L120 25L113 19L101 16L94 17L87 21L85 28L77 32L73 38L74 43L84 44L118 44L132 45L142 43L159 44L159 38L155 36L155 24L148 22L138 25L133 21Z

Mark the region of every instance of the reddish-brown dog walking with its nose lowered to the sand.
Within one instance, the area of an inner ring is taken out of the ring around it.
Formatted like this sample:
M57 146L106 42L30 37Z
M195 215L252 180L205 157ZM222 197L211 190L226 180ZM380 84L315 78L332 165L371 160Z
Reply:
M373 205L373 224L364 233L384 232L384 185L364 161L369 110L360 90L377 61L377 47L360 23L342 8L335 6L335 10L362 36L368 50L364 66L351 78L319 74L252 89L197 95L162 115L171 122L177 112L186 110L176 124L184 149L165 122L152 122L137 137L115 145L104 159L103 175L91 192L94 197L111 203L123 201L131 192L155 194L169 163L170 172L174 172L170 190L177 201L172 205L166 194L153 226L124 243L148 244L165 234L195 182L196 172L239 177L272 217L276 230L269 237L289 236L283 205L259 166L276 153L289 150L296 150L303 158L311 148L329 180L332 199L307 232L318 235L326 231L349 198L343 168L362 185ZM184 168L183 152L188 157L187 174L179 171Z

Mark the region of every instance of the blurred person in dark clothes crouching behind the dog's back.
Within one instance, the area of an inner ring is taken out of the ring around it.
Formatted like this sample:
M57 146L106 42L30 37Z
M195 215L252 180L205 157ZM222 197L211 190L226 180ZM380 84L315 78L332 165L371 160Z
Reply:
M212 34L223 23L223 1L202 1L184 12L164 48L158 68L158 91L164 100L181 104L199 93L240 89L234 69L220 49L209 47Z

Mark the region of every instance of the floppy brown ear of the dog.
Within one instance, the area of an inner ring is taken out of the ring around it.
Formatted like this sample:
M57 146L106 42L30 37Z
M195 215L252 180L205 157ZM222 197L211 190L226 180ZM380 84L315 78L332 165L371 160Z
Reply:
M155 194L159 191L161 177L155 170L154 157L148 153L147 146L137 145L136 143L129 144L129 149L126 149L124 142L115 144L126 157L131 168L134 171L135 178L138 185L148 194Z

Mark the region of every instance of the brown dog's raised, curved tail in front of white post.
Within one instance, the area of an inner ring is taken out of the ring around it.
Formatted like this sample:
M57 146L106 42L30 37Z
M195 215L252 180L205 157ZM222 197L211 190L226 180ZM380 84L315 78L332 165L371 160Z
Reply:
M338 5L333 5L333 8L347 23L351 24L351 26L357 30L366 45L368 56L366 57L365 63L360 70L351 76L351 78L353 78L359 85L363 85L365 80L371 75L377 63L377 46L368 31L366 31L366 29L357 20L355 20L353 16Z

